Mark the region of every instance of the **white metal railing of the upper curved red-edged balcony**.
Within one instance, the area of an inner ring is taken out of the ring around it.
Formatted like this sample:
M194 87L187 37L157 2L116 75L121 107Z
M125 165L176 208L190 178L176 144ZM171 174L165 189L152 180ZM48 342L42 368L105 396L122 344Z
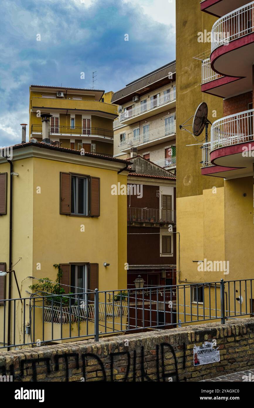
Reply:
M212 26L211 51L254 31L254 2L219 18Z

